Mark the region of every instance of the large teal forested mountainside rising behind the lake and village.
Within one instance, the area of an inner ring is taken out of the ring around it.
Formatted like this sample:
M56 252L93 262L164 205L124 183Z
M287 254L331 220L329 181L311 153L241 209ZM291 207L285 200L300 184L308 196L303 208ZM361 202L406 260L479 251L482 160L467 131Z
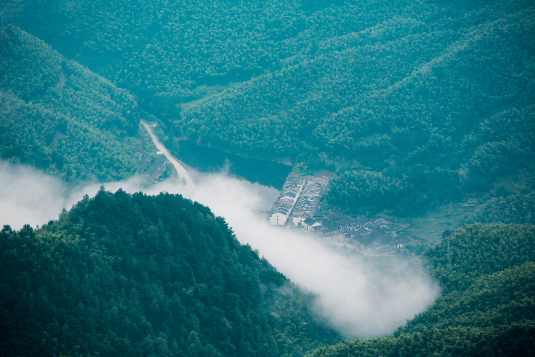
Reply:
M531 1L23 3L14 23L128 89L174 152L334 170L348 212L415 214L533 172Z

